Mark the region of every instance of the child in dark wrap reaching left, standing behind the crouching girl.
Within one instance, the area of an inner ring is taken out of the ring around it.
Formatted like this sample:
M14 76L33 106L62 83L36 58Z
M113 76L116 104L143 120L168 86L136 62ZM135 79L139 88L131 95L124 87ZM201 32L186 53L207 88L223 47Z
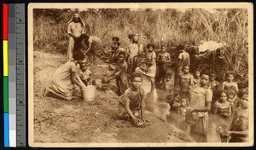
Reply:
M120 51L119 52L119 61L117 63L117 67L115 72L113 72L113 74L111 74L110 76L108 76L108 78L106 79L107 81L105 81L106 83L108 83L110 80L112 80L113 78L116 78L116 84L117 84L117 95L121 95L125 92L125 89L127 89L128 87L128 80L127 80L127 63L125 61L125 52L124 51Z

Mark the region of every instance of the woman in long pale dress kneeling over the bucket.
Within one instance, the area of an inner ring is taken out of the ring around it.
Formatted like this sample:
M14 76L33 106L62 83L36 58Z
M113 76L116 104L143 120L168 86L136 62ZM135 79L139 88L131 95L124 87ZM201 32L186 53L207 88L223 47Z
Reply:
M77 65L81 64L83 60L82 53L75 53L72 60L59 66L53 75L51 85L44 91L44 97L51 93L69 101L72 100L74 91L79 90L76 85L79 85L80 88L86 87L77 72Z

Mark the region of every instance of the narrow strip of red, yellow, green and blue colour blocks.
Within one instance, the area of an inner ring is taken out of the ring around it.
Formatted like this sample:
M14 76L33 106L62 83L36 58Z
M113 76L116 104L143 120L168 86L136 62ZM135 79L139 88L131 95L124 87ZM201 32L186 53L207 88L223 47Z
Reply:
M8 68L8 4L3 4L3 134L4 147L9 147L9 68Z

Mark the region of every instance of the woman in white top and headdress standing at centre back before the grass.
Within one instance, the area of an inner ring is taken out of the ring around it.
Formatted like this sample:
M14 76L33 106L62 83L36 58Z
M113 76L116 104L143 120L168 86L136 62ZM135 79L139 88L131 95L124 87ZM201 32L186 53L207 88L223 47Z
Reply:
M140 52L143 51L143 45L138 43L138 38L139 35L138 34L134 34L133 37L131 38L131 43L128 46L128 73L131 74L132 72L135 71L136 66L134 65L135 58L137 58L136 56L139 55Z

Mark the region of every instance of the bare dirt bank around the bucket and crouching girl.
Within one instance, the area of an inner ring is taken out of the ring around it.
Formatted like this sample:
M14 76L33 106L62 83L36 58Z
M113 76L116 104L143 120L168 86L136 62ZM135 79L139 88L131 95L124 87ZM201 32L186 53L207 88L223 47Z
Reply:
M194 142L194 140L146 111L143 127L133 127L129 121L120 120L118 96L114 80L106 91L96 90L95 101L63 101L53 96L45 99L42 94L50 83L55 69L67 61L64 55L50 55L34 51L34 142ZM97 60L97 64L102 61ZM106 65L106 64L105 64ZM94 78L103 78L111 71L104 66L90 66Z

